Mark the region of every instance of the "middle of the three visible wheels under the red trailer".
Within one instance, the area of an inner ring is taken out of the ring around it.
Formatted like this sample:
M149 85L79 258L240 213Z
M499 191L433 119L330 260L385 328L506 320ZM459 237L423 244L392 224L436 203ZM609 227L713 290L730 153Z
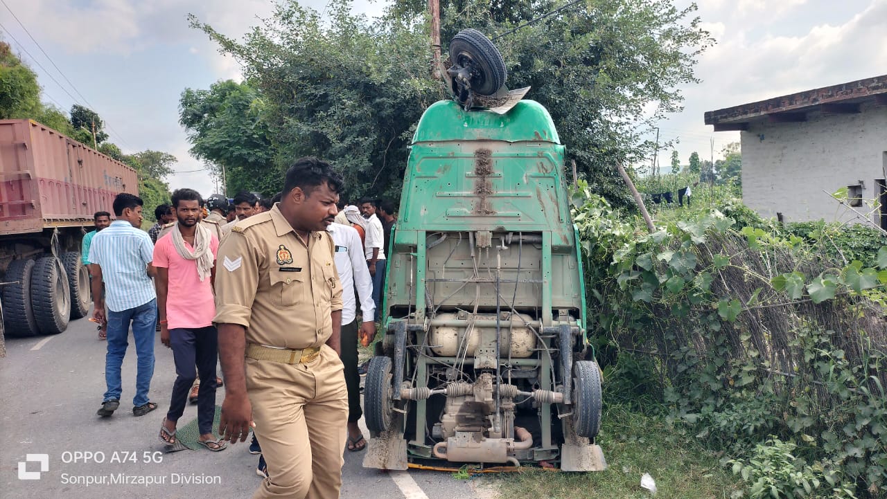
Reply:
M67 329L71 316L71 288L61 261L52 255L39 258L31 275L31 308L43 334Z

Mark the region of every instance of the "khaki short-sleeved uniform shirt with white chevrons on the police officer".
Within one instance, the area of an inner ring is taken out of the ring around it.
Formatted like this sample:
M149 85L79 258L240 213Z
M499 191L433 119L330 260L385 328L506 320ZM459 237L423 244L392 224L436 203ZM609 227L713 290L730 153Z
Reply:
M323 345L342 308L334 251L326 230L305 241L277 206L239 221L219 246L213 322L240 324L259 345Z

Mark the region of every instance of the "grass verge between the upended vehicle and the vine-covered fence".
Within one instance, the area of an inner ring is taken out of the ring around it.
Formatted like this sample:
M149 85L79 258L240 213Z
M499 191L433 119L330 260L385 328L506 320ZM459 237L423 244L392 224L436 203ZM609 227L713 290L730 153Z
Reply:
M494 485L502 497L640 499L653 496L640 487L641 475L649 473L655 480L656 499L729 499L741 497L745 489L718 464L718 456L664 417L609 405L598 441L609 465L604 472L530 469L498 476Z

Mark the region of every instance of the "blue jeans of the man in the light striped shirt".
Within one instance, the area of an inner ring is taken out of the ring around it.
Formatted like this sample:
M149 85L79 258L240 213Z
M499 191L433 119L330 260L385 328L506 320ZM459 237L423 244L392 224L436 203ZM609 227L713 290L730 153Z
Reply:
M157 322L157 300L120 312L108 310L108 351L105 356L107 391L104 402L119 401L123 391L120 370L123 356L130 346L130 322L138 356L136 396L132 399L132 405L138 407L148 403L148 389L151 388L151 378L154 375L154 324Z

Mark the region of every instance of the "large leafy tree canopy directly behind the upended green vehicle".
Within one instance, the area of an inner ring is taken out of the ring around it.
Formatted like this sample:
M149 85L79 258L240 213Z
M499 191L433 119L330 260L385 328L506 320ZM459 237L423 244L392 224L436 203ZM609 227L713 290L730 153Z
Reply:
M347 196L399 198L415 124L428 105L448 97L443 82L429 74L424 5L395 2L371 22L352 14L348 0L328 4L326 20L290 0L242 41L192 17L192 26L239 59L248 85L261 96L258 118L267 126L263 131L278 168L266 164L260 175L244 178L258 185L266 182L261 177L273 175L279 183L280 168L310 154L334 161L345 176ZM445 41L464 27L503 35L495 43L506 60L508 86L531 86L528 98L551 113L568 160L577 161L578 171L601 194L628 203L615 163L631 165L652 152L654 144L640 134L664 113L679 111L679 85L695 82L695 58L710 36L691 18L695 5L677 9L666 0L577 4L509 33L557 7L526 1L445 4L444 52ZM181 118L190 133L197 129L185 124L190 118L184 111L199 91L183 94ZM196 149L199 143L192 144Z

